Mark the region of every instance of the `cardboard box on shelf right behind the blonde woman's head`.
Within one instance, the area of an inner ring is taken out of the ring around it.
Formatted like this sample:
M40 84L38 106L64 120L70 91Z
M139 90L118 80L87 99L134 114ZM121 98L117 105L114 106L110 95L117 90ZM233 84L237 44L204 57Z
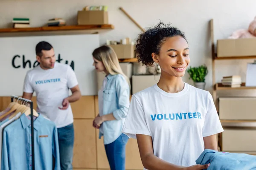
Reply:
M117 44L117 45L109 45L115 51L117 58L119 59L128 59L135 57L135 45L131 44Z

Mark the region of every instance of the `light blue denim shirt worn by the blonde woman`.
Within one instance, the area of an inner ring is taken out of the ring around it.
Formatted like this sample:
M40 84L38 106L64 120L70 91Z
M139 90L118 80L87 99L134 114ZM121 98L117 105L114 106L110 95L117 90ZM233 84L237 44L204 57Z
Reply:
M103 115L113 113L116 120L105 121L101 127L104 133L104 144L114 142L121 134L125 117L130 105L130 87L122 74L107 76L103 90ZM103 136L99 133L99 139Z

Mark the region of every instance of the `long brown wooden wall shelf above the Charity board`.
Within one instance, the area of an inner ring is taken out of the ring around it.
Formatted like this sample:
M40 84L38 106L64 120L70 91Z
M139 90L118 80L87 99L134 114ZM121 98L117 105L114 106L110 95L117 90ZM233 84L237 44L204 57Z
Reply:
M45 27L32 27L32 28L0 28L0 33L11 32L35 32L35 31L69 31L69 30L108 30L114 29L111 24L105 25L77 25L77 26L45 26Z

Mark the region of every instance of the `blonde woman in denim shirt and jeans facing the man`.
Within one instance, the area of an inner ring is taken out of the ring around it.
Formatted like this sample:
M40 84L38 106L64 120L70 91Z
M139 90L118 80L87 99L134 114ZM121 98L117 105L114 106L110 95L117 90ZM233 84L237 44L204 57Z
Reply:
M95 69L106 74L98 92L99 115L93 120L93 127L99 128L99 138L104 135L111 170L125 170L128 136L122 133L122 127L130 104L130 82L111 47L103 45L96 48L93 60Z

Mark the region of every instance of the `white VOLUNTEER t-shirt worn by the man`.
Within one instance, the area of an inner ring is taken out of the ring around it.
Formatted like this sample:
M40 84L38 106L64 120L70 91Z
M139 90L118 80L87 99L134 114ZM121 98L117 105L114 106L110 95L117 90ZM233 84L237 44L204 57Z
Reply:
M69 89L78 85L76 74L67 65L55 62L54 68L44 70L38 65L29 70L24 81L23 91L36 93L37 111L47 116L55 125L64 127L73 123L71 106L60 110L63 99L69 96Z

